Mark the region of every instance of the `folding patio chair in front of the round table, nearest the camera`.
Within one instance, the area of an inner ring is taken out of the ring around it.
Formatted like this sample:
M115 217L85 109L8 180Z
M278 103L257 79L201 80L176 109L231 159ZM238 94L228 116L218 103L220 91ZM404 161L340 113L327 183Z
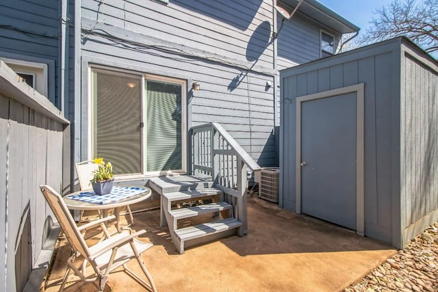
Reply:
M55 214L55 217L73 250L72 256L70 256L67 261L68 268L64 275L60 291L64 290L68 274L70 274L70 271L73 269L75 274L79 276L82 281L94 282L99 280L98 288L99 292L101 292L105 287L105 282L107 281L110 272L120 266L123 266L125 272L132 278L138 280L138 282L140 282L146 289L154 292L157 291L151 274L149 274L149 271L144 266L141 257L142 252L151 248L153 244L144 243L135 238L146 233L146 230L140 230L133 234L130 234L129 231L123 231L121 233L116 233L116 235L110 235L104 223L108 220L114 220L114 216L105 217L78 227L75 224L70 211L67 209L62 196L48 185L41 185L40 189ZM83 234L87 229L96 228L99 227L99 225L103 229L105 239L99 241L99 243L96 243L95 245L88 246L83 238ZM128 269L126 263L134 258L136 258L144 275L149 280L149 284ZM76 267L78 264L76 263L75 265L75 260L79 261L81 267ZM83 260L82 264L81 260ZM86 268L89 266L92 267L94 272L90 275L86 275Z

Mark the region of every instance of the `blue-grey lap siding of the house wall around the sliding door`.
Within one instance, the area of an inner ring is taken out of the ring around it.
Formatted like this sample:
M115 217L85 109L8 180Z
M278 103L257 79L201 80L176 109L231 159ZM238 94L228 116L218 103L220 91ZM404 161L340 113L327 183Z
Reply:
M274 13L272 3L261 0L82 1L83 106L76 137L81 149L75 156L87 158L88 66L100 64L187 80L189 129L220 122L259 165L274 165L275 77L291 57L283 54L274 66ZM285 35L283 48L304 43L314 51L305 56L297 51L294 62L320 57L318 27L304 20L285 23L289 26L300 32ZM192 81L201 83L201 91L190 90Z

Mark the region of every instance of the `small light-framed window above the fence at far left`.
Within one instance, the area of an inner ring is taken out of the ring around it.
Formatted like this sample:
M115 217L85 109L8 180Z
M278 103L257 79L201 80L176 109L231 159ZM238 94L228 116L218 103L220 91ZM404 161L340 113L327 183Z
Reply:
M16 72L27 85L47 96L47 64L27 62L19 59L0 58Z

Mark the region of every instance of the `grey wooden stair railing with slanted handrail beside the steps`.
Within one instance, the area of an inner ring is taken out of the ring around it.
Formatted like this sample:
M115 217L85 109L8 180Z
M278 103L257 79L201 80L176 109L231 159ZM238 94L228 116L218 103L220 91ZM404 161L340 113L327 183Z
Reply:
M214 186L222 190L225 200L233 205L234 217L242 222L239 235L246 234L246 169L255 171L260 166L216 122L192 127L191 143L192 174L213 179Z

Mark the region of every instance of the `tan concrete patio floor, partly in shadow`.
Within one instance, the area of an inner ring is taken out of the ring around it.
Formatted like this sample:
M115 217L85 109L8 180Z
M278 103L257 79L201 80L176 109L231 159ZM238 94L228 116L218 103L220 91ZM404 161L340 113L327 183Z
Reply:
M154 246L143 254L158 291L341 291L361 280L396 250L380 241L248 197L248 234L228 237L177 254L159 210L135 213L134 230ZM58 291L70 250L59 249L42 291ZM129 263L140 272L136 261ZM69 283L64 291L96 291L92 283ZM110 275L105 291L144 291L124 272Z

